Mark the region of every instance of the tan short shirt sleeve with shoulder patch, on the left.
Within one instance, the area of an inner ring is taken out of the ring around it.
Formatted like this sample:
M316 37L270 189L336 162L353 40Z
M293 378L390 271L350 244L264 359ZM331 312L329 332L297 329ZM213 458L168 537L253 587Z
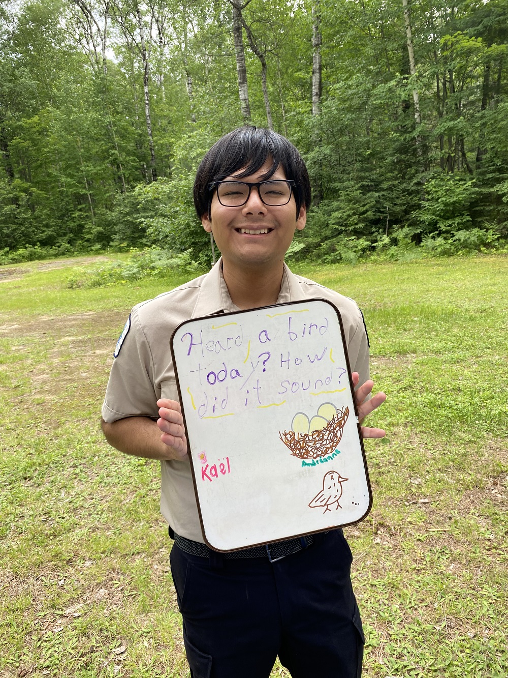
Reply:
M161 394L154 384L152 352L134 308L114 350L102 405L104 421L111 423L131 416L156 418Z

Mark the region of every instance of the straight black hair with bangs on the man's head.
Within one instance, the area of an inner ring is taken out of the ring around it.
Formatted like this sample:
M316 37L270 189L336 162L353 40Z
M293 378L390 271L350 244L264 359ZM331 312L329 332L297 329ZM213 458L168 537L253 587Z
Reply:
M199 218L210 213L213 191L210 184L243 169L238 178L254 174L267 160L272 166L261 180L269 179L277 167L282 167L287 179L295 182L293 195L297 207L310 208L310 178L307 167L295 146L284 136L270 129L245 125L220 138L200 162L194 181L194 207Z

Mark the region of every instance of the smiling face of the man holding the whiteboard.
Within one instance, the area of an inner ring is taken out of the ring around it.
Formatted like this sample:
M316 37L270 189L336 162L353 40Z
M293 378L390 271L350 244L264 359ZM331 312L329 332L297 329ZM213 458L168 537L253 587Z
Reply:
M257 172L241 177L242 169L226 180L258 182L266 179L272 163L267 161ZM286 179L284 170L278 167L270 179ZM295 218L297 216L297 218ZM306 220L305 206L296 215L295 198L287 205L272 207L265 205L256 188L253 188L249 200L240 207L224 207L213 193L210 213L201 217L205 231L213 233L217 247L221 251L226 265L255 268L266 271L272 266L278 267L284 261L295 231L301 231Z

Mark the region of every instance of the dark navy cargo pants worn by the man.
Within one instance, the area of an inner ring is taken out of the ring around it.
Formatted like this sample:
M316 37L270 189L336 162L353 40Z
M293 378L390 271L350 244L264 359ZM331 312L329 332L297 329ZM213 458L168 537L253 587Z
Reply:
M192 678L268 678L277 655L293 678L360 678L364 635L342 530L274 563L177 546L170 560Z

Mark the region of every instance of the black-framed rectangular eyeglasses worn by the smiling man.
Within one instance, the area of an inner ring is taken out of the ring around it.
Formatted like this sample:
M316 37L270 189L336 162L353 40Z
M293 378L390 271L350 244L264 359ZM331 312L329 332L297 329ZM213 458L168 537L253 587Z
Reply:
M210 184L210 190L214 191L217 188L217 198L224 207L241 207L247 203L251 190L255 187L262 203L270 207L280 207L289 203L295 186L291 179L272 179L255 183L214 181Z

